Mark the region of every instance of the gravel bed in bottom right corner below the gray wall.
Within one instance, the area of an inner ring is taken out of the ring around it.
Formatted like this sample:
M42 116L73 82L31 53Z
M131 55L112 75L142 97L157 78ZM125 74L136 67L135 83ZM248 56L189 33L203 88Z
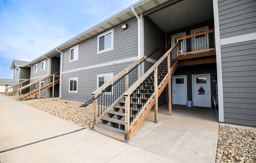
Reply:
M221 126L216 163L256 163L256 130Z

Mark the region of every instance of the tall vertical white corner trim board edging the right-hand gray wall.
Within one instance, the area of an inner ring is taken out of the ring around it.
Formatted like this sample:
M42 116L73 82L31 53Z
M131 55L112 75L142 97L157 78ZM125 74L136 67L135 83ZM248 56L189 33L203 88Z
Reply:
M213 0L213 13L214 13L214 28L215 28L214 34L215 34L217 79L218 79L219 121L224 122L223 83L222 83L222 66L221 66L220 35L219 35L218 0Z

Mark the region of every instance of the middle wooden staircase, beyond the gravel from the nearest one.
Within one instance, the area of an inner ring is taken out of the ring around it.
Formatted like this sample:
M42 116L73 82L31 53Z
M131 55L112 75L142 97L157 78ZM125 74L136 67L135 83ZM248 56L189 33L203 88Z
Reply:
M59 75L60 72L56 72L54 74L48 75L36 82L30 83L28 85L25 85L24 87L21 87L18 90L18 93L16 94L17 96L17 100L27 100L37 94L39 94L39 98L40 98L40 92L53 87L56 84L58 84L60 82L59 80ZM54 93L54 91L53 91Z

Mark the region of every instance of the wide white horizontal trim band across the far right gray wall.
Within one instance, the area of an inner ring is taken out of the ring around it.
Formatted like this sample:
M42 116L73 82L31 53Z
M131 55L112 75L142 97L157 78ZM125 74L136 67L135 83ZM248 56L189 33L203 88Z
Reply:
M256 40L256 32L220 39L220 45Z

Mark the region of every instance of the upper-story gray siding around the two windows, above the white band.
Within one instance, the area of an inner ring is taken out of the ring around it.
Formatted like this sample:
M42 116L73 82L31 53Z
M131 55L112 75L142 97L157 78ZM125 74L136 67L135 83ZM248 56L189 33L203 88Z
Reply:
M123 30L121 27L123 24L128 24L128 28ZM63 52L63 71L138 56L137 19L135 17L131 18L111 29L114 29L114 49L112 51L97 54L98 35L92 36L79 43L79 60L70 63L69 49L66 49ZM108 30L110 29L107 29L106 31Z

